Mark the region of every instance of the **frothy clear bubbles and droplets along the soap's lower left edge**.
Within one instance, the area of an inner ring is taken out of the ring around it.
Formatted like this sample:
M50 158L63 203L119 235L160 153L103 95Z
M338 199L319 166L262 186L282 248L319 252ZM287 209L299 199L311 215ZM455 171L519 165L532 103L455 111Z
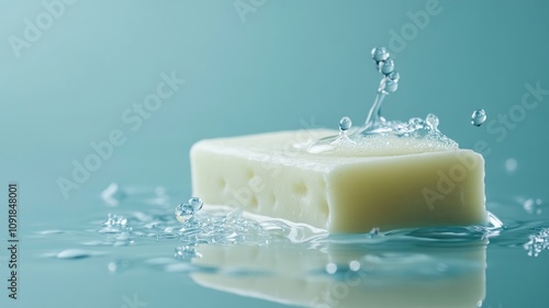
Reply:
M109 214L98 231L105 241L97 244L130 244L138 238L156 241L177 239L177 259L198 256L199 244L268 244L272 239L288 239L292 242L309 241L325 231L313 227L292 225L280 219L256 220L246 217L242 209L211 206L203 208L199 197L177 205L173 216L163 213L144 214L136 212L132 217Z

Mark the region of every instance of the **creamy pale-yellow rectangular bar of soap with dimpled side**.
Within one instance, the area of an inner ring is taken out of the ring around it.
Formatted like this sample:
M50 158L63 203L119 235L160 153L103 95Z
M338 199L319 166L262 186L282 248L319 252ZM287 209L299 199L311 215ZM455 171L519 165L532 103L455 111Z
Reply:
M201 140L190 153L193 194L330 232L486 224L481 155L396 137L343 151L306 150L334 134Z

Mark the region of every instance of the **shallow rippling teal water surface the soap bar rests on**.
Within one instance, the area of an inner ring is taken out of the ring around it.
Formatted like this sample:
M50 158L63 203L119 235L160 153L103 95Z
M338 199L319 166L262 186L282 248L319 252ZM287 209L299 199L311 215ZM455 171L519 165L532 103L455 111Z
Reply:
M167 192L145 190L119 198L119 207L92 206L63 229L35 226L24 237L24 307L49 301L58 307L548 303L549 208L539 199L489 197L488 209L503 227L330 236L215 207L199 212L182 228ZM25 273L36 271L42 274L26 280ZM518 288L523 284L529 286ZM25 297L25 289L32 296Z

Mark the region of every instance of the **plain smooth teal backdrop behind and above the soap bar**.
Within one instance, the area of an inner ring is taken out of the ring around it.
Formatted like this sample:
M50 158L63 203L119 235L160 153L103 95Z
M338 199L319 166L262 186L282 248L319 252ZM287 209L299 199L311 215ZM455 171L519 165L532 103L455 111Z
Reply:
M99 194L111 182L165 186L186 198L188 151L202 138L336 127L345 115L361 123L380 79L374 46L393 52L402 76L385 117L435 113L461 147L484 140L489 201L547 201L549 95L502 140L486 124L520 104L526 83L549 89L549 3L440 0L424 28L391 48L391 31L401 34L413 23L407 12L427 2L268 0L243 22L233 1L80 0L18 58L9 37L23 37L24 20L46 10L42 1L0 1L0 183L20 185L21 232L70 225L83 208L104 210ZM171 71L186 84L132 132L123 112ZM489 116L481 127L470 124L475 109ZM70 179L71 161L82 162L90 142L113 129L126 142L64 198L56 180ZM504 168L508 158L514 172ZM525 296L506 289L491 294L494 307Z

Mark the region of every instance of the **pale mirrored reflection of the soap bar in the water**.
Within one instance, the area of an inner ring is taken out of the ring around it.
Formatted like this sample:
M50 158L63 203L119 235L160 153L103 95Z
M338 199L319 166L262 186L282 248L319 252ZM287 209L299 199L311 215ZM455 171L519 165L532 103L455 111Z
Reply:
M214 289L305 307L461 308L484 299L485 240L405 252L373 247L201 246L193 264L256 274L210 271L191 277ZM326 274L318 273L322 267Z

